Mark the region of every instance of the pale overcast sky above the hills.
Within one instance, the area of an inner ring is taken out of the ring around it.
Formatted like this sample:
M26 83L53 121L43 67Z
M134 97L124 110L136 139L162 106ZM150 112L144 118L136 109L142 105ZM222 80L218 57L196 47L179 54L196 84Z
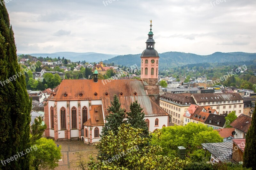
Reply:
M150 19L159 53L256 52L255 0L12 0L6 7L17 53L139 54Z

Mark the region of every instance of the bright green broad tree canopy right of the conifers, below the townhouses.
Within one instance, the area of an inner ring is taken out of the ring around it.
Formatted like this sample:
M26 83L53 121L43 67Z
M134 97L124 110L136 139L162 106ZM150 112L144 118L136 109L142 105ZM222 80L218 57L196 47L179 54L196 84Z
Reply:
M220 142L223 139L217 131L201 123L190 122L186 126L169 126L161 129L161 140L154 139L163 148L163 155L173 156L178 146L184 146L187 153L202 148L205 139L209 142Z

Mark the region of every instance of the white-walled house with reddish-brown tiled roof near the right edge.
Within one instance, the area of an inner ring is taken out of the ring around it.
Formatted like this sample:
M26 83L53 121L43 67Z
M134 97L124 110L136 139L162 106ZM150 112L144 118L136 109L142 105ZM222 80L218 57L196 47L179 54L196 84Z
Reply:
M252 118L247 115L240 115L234 120L232 123L230 123L230 126L235 128L235 139L241 139L245 138L248 129L251 126Z

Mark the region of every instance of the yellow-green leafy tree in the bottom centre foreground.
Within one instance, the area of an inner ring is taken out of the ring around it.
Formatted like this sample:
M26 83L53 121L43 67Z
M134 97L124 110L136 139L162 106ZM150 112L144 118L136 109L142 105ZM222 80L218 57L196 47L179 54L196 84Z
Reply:
M108 135L102 137L100 143L96 145L101 154L97 157L97 162L90 158L89 168L180 170L186 165L185 160L158 155L157 153L162 150L161 147L146 145L149 138L142 138L140 135L142 133L143 129L133 128L130 124L122 124L116 135L113 131L109 131Z

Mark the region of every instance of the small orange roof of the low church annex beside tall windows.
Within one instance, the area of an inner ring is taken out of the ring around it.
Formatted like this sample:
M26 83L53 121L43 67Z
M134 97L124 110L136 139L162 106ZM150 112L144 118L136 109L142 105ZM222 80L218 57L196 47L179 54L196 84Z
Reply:
M90 110L90 119L84 122L84 126L104 126L101 105L92 105L92 110Z

